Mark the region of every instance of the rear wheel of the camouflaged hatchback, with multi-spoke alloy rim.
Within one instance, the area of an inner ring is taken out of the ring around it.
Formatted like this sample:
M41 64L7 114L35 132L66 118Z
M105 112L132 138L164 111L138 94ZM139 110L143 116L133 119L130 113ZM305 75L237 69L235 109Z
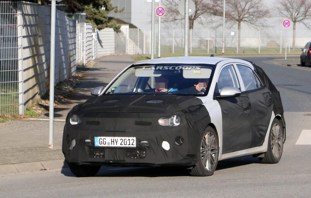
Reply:
M276 128L274 128L274 126L276 126ZM278 132L275 131L277 130L277 128L279 129ZM276 133L278 134L276 135L277 141L275 141ZM265 163L265 164L278 163L282 157L283 143L284 143L283 125L281 124L280 120L278 120L277 118L274 118L272 125L271 125L271 129L270 129L267 152L264 153L265 156L263 158L259 158L261 163Z

